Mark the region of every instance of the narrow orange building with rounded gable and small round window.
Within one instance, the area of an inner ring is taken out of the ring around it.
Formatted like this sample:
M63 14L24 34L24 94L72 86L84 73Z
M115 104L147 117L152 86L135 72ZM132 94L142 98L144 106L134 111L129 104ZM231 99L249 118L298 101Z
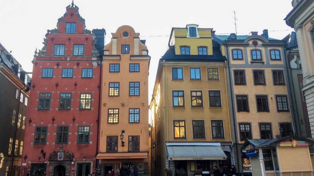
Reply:
M131 26L119 27L104 48L97 155L103 175L129 167L148 175L149 60L145 40Z

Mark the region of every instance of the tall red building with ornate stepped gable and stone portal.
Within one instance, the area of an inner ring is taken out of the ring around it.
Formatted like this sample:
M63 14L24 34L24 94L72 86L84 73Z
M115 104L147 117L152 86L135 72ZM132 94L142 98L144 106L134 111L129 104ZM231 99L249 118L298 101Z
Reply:
M104 40L105 29L95 31ZM36 49L21 176L95 172L101 70L96 35L72 2Z

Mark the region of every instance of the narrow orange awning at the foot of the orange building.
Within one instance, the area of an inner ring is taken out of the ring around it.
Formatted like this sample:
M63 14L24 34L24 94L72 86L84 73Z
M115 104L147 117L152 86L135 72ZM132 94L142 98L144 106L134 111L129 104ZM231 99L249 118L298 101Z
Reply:
M135 159L147 158L147 152L139 153L98 153L96 159Z

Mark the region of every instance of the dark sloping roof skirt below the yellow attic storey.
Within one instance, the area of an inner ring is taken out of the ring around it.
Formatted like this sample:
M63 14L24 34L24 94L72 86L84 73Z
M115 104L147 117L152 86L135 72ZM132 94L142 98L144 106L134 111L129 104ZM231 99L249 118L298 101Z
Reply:
M219 48L213 48L213 55L176 55L174 46L169 49L161 57L166 61L189 61L189 62L225 62L226 57L223 56Z

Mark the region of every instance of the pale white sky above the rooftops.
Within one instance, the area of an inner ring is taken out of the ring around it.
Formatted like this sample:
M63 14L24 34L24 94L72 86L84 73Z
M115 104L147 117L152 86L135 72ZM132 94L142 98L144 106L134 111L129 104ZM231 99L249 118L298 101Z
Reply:
M1 0L0 43L22 68L32 71L35 49L43 47L47 29L57 28L57 20L72 0ZM271 38L283 39L292 28L284 21L291 11L291 0L74 0L86 28L106 29L106 41L122 25L130 25L146 40L151 56L149 68L149 101L151 99L158 60L165 53L172 27L214 28L216 34L251 31L262 34L268 29Z

